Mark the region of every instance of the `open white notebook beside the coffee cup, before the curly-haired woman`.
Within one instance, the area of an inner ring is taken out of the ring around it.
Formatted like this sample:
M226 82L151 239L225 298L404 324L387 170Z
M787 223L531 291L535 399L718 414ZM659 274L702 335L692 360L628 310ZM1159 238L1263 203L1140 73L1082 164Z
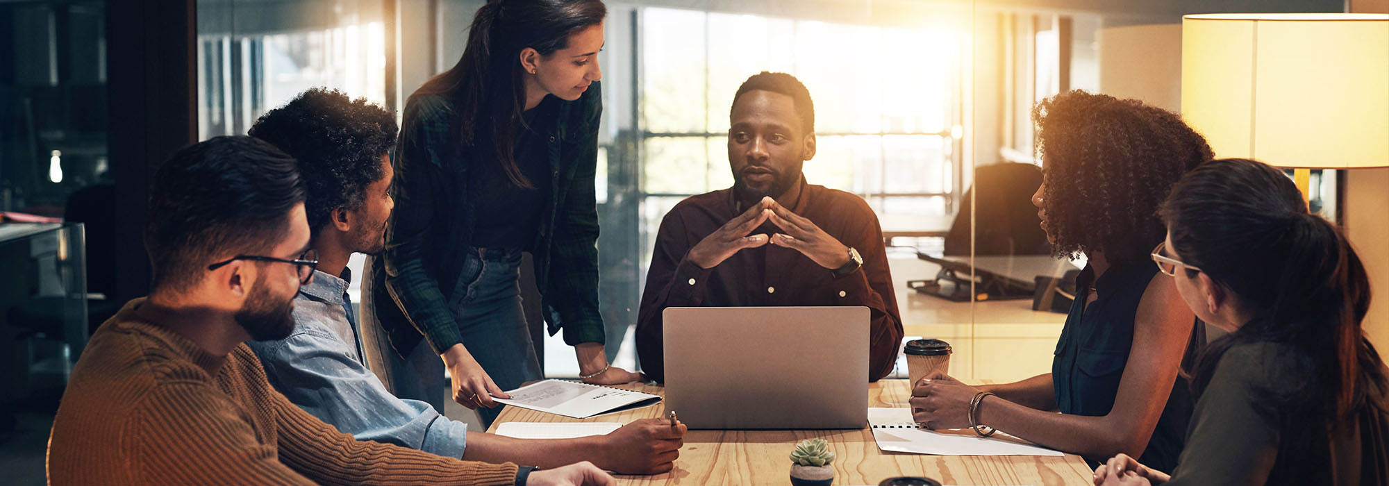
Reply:
M911 419L911 408L868 408L868 426L878 449L935 455L1065 455L997 432L981 437L970 429L926 430Z

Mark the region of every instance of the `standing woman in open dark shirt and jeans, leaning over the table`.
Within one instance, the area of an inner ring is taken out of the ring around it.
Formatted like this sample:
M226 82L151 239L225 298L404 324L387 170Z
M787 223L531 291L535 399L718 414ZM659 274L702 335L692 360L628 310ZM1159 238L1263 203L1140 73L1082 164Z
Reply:
M522 251L533 257L549 330L564 330L583 380L640 378L608 364L599 314L593 178L606 14L599 0L489 1L458 64L406 101L396 210L369 278L388 339L368 355L397 396L442 412L447 367L453 399L483 407L486 426L500 412L492 397L543 378L521 307Z

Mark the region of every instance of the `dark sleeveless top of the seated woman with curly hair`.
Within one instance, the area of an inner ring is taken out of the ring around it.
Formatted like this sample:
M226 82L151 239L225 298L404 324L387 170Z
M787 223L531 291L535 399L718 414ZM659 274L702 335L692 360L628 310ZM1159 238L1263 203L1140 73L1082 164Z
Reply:
M1124 365L1133 344L1138 303L1143 299L1153 275L1157 275L1157 267L1147 260L1110 267L1097 280L1092 267L1086 265L1081 271L1075 282L1075 303L1065 317L1065 326L1056 346L1056 358L1051 361L1056 404L1063 414L1101 417L1114 408L1114 397L1118 394ZM1090 282L1095 282L1097 297L1086 305ZM1190 362L1193 351L1206 342L1206 325L1196 324L1192 328L1192 342L1186 346L1183 365ZM1193 405L1188 380L1178 376L1139 462L1163 472L1172 471L1178 454L1182 453ZM1096 464L1108 457L1085 460Z

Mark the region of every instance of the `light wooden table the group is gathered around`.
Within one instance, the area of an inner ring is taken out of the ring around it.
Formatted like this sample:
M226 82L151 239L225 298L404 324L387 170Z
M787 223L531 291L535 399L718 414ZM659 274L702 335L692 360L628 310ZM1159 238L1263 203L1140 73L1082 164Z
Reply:
M656 385L624 389L661 394ZM906 407L904 379L868 385L870 407ZM795 412L795 404L786 404ZM664 407L629 410L588 419L507 407L488 432L503 422L631 422L661 417ZM1092 485L1092 469L1078 455L922 455L883 453L861 430L690 430L675 469L654 476L618 476L619 485L789 485L790 451L796 442L825 439L835 451L835 485L878 485L892 476L926 476L943 485Z

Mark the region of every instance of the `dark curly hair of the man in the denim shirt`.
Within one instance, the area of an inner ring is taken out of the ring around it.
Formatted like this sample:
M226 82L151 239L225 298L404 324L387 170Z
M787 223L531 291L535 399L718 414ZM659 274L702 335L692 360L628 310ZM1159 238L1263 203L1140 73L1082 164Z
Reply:
M313 87L265 112L249 135L299 160L314 235L333 210L361 207L367 186L385 175L381 157L396 143L396 115L336 89Z

